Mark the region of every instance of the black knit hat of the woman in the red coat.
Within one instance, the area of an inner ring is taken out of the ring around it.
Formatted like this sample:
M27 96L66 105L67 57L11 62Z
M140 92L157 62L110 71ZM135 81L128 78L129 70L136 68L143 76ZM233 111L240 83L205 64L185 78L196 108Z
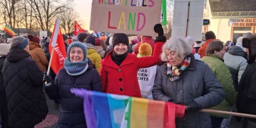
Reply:
M113 47L118 43L125 43L128 46L129 45L128 36L125 33L115 33L113 35L113 40L112 40Z

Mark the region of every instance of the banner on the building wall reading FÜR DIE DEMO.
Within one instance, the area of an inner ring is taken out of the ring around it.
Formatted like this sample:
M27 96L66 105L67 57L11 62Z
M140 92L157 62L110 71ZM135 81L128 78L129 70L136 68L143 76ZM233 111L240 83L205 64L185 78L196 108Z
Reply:
M255 19L228 19L228 26L232 27L255 27Z

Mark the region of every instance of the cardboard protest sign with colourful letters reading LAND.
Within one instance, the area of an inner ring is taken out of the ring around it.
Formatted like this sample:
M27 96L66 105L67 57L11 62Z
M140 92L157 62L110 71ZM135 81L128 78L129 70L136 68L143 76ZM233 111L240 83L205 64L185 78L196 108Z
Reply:
M161 0L93 0L90 30L155 36Z

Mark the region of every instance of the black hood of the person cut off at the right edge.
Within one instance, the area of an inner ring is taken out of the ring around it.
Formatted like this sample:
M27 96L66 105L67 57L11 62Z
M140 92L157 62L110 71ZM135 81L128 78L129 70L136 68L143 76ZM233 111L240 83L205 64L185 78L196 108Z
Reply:
M250 35L248 37L243 38L242 46L244 48L248 48L249 55L248 55L248 63L251 64L255 62L256 59L256 34Z

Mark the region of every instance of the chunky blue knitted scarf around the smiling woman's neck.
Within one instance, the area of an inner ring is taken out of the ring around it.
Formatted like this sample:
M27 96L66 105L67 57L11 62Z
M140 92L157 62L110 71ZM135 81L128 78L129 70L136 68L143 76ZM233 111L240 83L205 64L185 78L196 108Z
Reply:
M84 59L82 62L70 62L69 57L66 57L64 61L64 68L69 75L76 76L83 74L88 68L88 59Z

